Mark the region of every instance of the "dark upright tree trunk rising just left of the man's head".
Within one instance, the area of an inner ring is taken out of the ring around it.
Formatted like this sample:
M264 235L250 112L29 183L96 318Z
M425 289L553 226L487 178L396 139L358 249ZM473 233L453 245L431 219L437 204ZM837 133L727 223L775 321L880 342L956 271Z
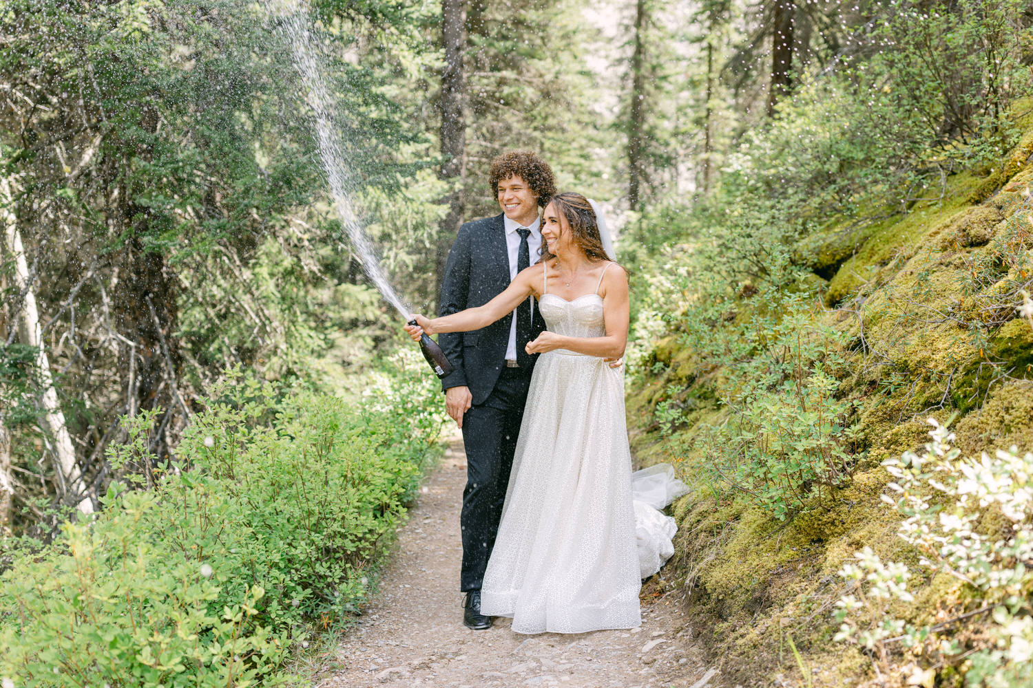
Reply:
M448 214L441 221L435 254L435 293L441 288L448 249L459 232L466 210L462 184L466 171L466 120L463 116L463 101L466 97L466 73L463 66L463 52L466 48L466 5L465 0L442 0L441 42L444 47L445 65L441 71L441 178L451 185L445 198Z

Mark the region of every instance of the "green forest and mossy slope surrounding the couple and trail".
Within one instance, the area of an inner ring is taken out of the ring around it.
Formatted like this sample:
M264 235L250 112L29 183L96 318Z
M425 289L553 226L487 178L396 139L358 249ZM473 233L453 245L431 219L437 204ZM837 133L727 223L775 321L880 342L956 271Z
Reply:
M601 201L713 685L1033 685L1033 2L0 0L3 688L312 685L442 454L293 15L413 312Z

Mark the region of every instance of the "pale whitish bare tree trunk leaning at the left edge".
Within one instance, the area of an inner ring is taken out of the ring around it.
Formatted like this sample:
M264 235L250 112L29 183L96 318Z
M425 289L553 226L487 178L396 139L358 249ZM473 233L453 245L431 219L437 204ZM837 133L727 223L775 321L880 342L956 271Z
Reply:
M36 309L36 296L32 290L32 279L29 275L29 264L25 259L22 247L22 234L18 229L18 219L12 205L13 194L10 183L0 178L0 212L3 214L4 240L7 251L14 262L14 289L22 294L22 303L18 306L19 339L24 345L35 347L38 351L36 368L39 373L39 386L42 390L40 403L43 409L43 422L53 443L51 448L56 458L58 494L62 501L77 502L76 509L83 514L93 513L93 502L90 500L83 481L83 473L75 462L75 450L71 444L71 435L65 426L64 413L58 404L58 393L54 389L54 378L51 374L51 363L43 347L42 332L39 327L39 312Z

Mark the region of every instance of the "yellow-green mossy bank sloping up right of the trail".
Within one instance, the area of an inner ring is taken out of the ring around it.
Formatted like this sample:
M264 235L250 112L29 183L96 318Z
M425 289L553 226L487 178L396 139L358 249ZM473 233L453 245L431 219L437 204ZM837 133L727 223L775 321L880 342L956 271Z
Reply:
M636 393L646 395L648 388L653 403L675 397L686 409L699 402L672 435L662 440L661 433L640 435L641 441L656 443L643 455L644 461L671 460L678 454L680 474L699 488L672 506L679 531L666 575L686 582L691 591L689 616L703 631L700 637L709 651L721 658L726 680L759 685L759 677L773 676L776 665L784 676L794 674L791 655L782 653L785 638L791 637L805 661L820 669L808 679L813 678L814 685L867 685L869 658L832 641L836 626L831 610L844 593L838 571L864 547L884 561L918 567L920 553L898 535L903 517L879 498L889 480L880 463L929 441L928 416L944 422L954 412L965 414L953 427L957 445L970 456L1010 445L1033 450L1033 381L995 376L987 365L1006 361L1012 378L1033 379L1033 329L1024 321L1009 322L979 352L969 324L953 320L978 322L987 298L1011 294L1016 282L1026 279L1015 279L1011 263L994 261L1014 223L1026 222L1025 212L1015 214L1028 203L1025 192L1033 184L1033 118L1029 120L1020 123L1026 134L1000 166L995 165L996 171L948 177L941 203L919 203L906 216L866 227L835 219L794 247L795 264L813 271L810 286L820 289L821 277L835 271L825 302L853 299L859 312L859 317L853 309L822 316L854 343L848 347L849 364L843 373L847 380L838 394L860 406L857 451L866 454L851 479L820 505L816 501L813 510L783 524L727 486L715 486L714 493L707 490L707 481L714 479L701 468L708 457L698 455L702 443L697 428L719 422L728 412L702 395L732 373L726 368L700 369L700 361L683 351L676 336L657 348L655 360L663 365L647 375L648 384ZM963 290L963 281L974 276L966 272L972 264L992 266L989 277L981 275L980 296L987 298L978 301ZM985 289L998 279L997 272L1000 289ZM753 300L752 290L744 288L740 298L738 323L766 313L762 298ZM1009 296L1001 302L1011 300ZM860 345L862 328L867 348ZM948 379L950 388L971 401L944 397ZM629 416L637 415L643 424L649 420L644 418L646 409L629 405ZM947 576L916 577L912 583L909 589L917 602L893 611L915 623L935 621L933 615L942 610L938 602L968 594ZM820 673L826 669L828 676Z

